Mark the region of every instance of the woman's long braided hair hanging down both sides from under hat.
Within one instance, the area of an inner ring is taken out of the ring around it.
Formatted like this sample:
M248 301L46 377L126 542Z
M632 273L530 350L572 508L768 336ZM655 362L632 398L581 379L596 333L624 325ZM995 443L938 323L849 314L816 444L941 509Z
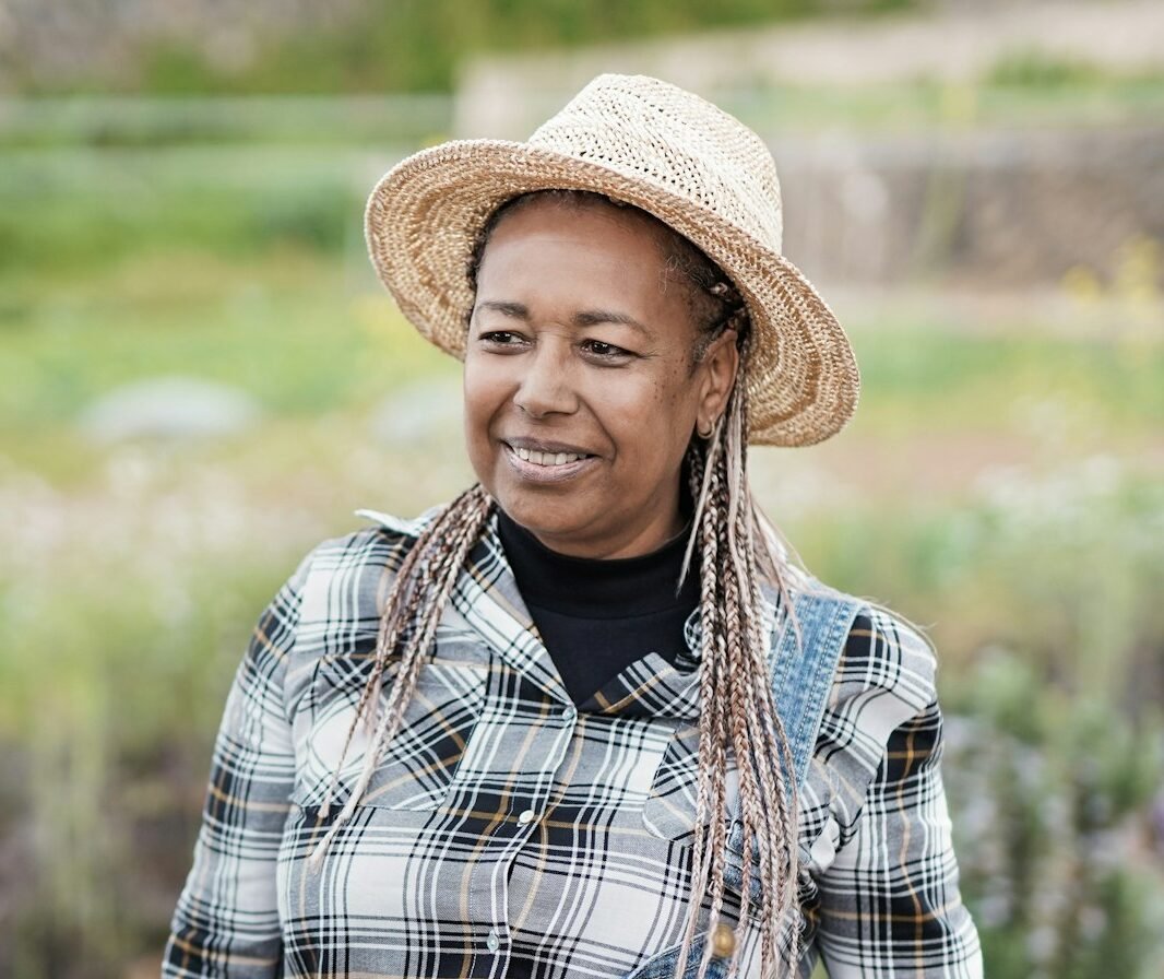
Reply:
M581 206L598 200L632 207L590 191L535 191L513 198L494 212L476 240L467 269L474 292L485 246L501 219L546 198L563 206ZM688 284L691 314L697 325L691 370L715 339L734 332L740 355L739 376L746 376L751 322L739 292L700 248L666 224L647 217L658 225L661 234L666 275ZM737 383L710 437L691 439L683 467L690 495L696 501L683 575L688 573L697 547L702 674L691 900L675 976L682 976L687 969L688 949L700 927L703 895L710 898L710 921L705 925L709 932L716 929L723 911L730 818L729 752L737 761L738 818L744 831L745 884L739 928L745 927L750 911L755 915L758 910L761 976L765 979L775 979L778 974L778 950L786 927L789 936L783 941L789 944L788 962L793 972L800 959L795 768L772 697L769 643L762 633L759 590L762 573L775 582L780 605L790 613L786 588L788 565L785 552L774 542L771 524L754 506L746 462L747 389L745 384ZM400 566L384 603L371 674L321 807L322 818L329 815L339 773L361 723L372 731L370 747L353 792L311 854L315 867L331 840L355 811L385 745L400 726L420 667L432 654L436 624L495 506L484 488L480 483L474 484L424 528ZM795 626L795 622L793 624ZM399 654L399 665L381 708L384 678L393 654ZM746 879L753 863L761 885L758 909L753 907ZM737 941L734 948L740 944ZM705 976L712 951L712 943L705 942L697 970L698 979ZM736 959L733 952L730 977L736 974Z

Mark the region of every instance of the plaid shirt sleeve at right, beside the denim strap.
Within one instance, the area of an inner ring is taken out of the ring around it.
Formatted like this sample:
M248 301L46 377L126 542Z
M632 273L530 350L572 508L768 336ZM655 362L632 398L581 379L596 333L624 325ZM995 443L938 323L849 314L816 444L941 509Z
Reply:
M851 835L821 875L817 949L831 979L981 979L978 932L958 889L932 671L903 666L924 661L927 644L878 620L866 620L868 668L882 686L908 672L897 680L921 705L883 743Z

